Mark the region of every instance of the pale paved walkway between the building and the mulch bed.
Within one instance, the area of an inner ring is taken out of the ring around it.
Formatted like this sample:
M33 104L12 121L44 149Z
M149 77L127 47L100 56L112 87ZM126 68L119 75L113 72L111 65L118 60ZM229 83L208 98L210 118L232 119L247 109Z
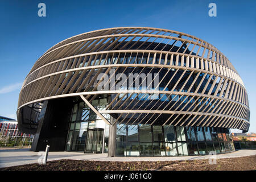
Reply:
M31 152L28 148L7 149L0 148L0 168L19 166L23 164L38 163L39 152ZM243 156L256 155L256 150L239 150L228 154L218 154L217 159L223 158L239 158ZM172 157L115 157L108 158L107 154L84 154L80 152L49 152L48 160L73 159L73 160L98 160L98 161L171 161L171 160L195 160L209 159L209 155L205 156L172 156Z

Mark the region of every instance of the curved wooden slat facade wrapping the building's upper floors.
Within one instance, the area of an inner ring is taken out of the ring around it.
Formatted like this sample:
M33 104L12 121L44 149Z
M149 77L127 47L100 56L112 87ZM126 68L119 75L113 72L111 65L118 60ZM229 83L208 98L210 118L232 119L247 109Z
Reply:
M113 69L114 73L110 70ZM160 90L97 90L100 73L159 73ZM18 102L40 113L46 100L111 96L100 113L119 124L225 127L248 131L250 110L243 81L216 47L182 32L119 27L86 32L48 49L24 80ZM158 94L158 100L148 99ZM20 121L21 120L21 121ZM31 119L32 121L33 119ZM35 120L35 119L34 119ZM161 122L159 122L161 120ZM36 125L36 124L35 124Z

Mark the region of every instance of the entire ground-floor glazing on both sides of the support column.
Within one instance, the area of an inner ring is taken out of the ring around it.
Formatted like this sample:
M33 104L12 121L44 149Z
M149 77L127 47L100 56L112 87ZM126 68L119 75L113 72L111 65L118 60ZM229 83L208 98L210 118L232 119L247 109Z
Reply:
M108 98L92 101L97 110L105 110ZM104 114L110 119L109 114ZM108 153L109 125L84 102L74 102L66 142L66 151ZM234 151L228 129L172 125L117 125L117 156L187 156Z

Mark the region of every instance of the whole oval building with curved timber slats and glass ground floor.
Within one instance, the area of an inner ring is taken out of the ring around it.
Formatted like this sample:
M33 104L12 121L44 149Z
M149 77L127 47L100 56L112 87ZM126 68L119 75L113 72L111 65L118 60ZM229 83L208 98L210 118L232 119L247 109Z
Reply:
M216 47L182 32L120 27L48 49L24 80L19 130L32 151L109 156L234 151L229 129L248 131L246 89Z

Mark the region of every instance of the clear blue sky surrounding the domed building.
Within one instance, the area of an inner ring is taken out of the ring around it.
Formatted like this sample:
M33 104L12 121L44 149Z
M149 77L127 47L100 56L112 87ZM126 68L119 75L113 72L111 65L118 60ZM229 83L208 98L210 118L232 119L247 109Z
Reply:
M46 17L38 4L46 4ZM217 5L217 17L208 5ZM15 118L19 90L35 61L56 43L100 28L143 26L197 36L217 47L245 83L256 133L256 1L14 1L0 2L0 115Z

